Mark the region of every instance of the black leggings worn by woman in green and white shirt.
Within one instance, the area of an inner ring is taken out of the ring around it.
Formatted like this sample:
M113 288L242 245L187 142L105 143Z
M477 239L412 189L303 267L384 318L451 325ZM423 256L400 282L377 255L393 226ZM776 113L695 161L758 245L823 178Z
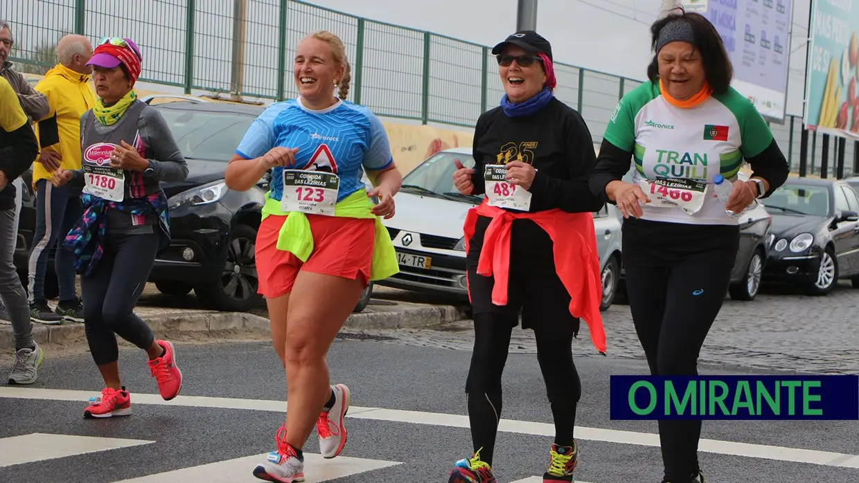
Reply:
M698 354L728 292L733 260L688 257L671 268L624 261L638 340L650 373L698 375ZM665 479L689 481L698 472L700 420L660 420Z

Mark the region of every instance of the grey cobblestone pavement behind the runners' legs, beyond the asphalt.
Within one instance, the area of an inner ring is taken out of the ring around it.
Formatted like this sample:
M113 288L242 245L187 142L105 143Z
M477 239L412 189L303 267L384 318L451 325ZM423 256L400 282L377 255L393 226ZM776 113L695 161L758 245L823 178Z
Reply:
M710 330L701 362L790 372L859 372L859 290L842 283L825 297L765 288L752 302L726 299ZM603 312L612 357L643 359L628 305ZM345 331L345 337L371 337L385 343L471 350L471 321L435 329ZM585 323L573 344L574 356L601 357ZM510 353L536 353L533 333L514 329Z

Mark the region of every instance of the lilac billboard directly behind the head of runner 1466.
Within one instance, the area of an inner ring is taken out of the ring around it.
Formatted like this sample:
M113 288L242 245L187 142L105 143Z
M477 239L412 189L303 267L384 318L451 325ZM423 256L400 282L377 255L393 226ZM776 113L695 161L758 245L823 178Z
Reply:
M731 85L758 112L784 122L788 93L791 0L683 0L722 35L734 66Z

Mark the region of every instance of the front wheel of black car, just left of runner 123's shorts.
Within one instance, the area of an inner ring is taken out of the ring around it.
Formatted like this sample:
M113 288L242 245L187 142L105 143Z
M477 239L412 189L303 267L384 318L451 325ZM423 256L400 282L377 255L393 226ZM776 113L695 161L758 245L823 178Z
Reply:
M259 279L254 249L257 231L236 225L229 233L227 261L220 277L194 286L200 302L213 311L246 312L259 305Z

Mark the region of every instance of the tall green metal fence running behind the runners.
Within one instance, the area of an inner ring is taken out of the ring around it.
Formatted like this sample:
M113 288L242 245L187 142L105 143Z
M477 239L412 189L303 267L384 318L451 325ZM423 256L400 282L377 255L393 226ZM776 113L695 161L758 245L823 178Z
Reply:
M379 116L471 128L503 94L488 46L295 0L3 0L0 18L13 23L11 60L22 68L50 67L52 47L65 33L93 40L130 37L143 50L141 81L189 94L294 97L290 63L295 45L320 29L337 33L346 45L353 73L350 100ZM594 143L601 142L619 98L641 84L565 63L555 70L557 97L582 113ZM772 129L796 170L801 118L790 116ZM821 144L810 136L809 173L820 173ZM854 148L847 143L845 173L853 172ZM828 163L831 175L835 159Z

